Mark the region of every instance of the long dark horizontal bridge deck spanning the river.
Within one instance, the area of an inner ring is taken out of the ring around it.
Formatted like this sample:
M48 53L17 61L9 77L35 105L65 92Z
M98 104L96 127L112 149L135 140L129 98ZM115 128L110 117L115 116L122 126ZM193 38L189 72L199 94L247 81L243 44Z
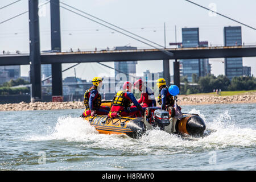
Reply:
M162 49L174 55L166 55L159 49L135 49L115 51L81 51L41 53L41 63L89 63L106 61L206 59L218 57L255 57L256 46L198 47ZM29 54L0 55L0 65L29 64Z

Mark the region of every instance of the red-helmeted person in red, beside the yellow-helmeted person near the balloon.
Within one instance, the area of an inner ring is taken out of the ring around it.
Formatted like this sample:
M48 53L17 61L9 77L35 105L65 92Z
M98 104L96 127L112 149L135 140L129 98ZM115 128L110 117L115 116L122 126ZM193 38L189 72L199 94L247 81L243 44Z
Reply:
M134 82L135 88L141 91L141 98L138 100L139 104L142 104L142 107L154 107L156 106L154 92L144 85L144 82L139 79Z

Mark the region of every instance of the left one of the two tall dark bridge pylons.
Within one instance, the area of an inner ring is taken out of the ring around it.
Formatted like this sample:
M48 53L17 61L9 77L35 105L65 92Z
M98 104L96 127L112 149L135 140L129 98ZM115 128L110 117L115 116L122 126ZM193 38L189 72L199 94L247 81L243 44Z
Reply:
M30 80L32 86L30 94L31 102L36 102L42 100L38 0L29 0L28 10L30 26Z

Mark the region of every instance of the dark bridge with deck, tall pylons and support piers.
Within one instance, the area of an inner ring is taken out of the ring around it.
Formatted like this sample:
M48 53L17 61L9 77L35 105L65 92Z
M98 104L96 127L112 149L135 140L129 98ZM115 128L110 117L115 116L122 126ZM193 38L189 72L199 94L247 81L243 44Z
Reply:
M254 57L256 46L153 48L122 51L61 52L60 5L51 0L52 53L40 52L38 0L28 0L30 26L30 53L0 55L0 65L30 65L31 101L42 98L41 64L52 65L52 96L63 96L62 63L91 63L108 61L163 60L163 76L170 84L170 63L174 61L174 84L180 86L179 59L207 59L218 57Z

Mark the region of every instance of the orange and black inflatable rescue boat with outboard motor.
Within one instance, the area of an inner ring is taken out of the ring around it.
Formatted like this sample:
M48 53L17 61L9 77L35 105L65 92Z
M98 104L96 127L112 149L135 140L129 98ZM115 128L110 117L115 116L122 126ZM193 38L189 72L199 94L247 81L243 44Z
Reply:
M111 102L103 102L102 106L110 106ZM84 118L101 134L126 134L131 138L138 138L146 130L158 127L167 133L181 135L203 135L204 120L198 114L184 114L176 119L170 111L157 109L154 111L147 107L144 118L118 117L108 118L107 115L90 115Z

